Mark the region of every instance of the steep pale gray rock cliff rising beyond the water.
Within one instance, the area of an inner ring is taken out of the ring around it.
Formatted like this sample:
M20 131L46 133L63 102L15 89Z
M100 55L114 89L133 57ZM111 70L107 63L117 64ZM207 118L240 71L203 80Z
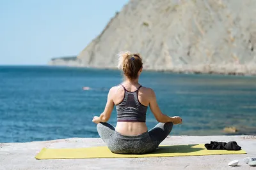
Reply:
M116 68L116 53L129 50L141 53L145 69L256 74L254 16L251 0L131 0L77 66Z

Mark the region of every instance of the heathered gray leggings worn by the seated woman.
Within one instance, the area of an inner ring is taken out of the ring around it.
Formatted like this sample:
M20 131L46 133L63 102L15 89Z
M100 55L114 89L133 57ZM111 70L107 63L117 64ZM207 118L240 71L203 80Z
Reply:
M108 145L113 153L142 154L149 153L172 131L173 123L159 123L150 131L138 136L124 136L115 131L115 127L108 123L97 124L100 138Z

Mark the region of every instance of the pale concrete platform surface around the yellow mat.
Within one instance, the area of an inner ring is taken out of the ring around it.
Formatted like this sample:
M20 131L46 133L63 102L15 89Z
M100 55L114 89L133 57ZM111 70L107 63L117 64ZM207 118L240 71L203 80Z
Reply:
M187 145L210 141L237 141L246 150L242 155L207 155L190 157L152 157L124 159L63 159L36 160L43 147L79 148L104 146L99 138L71 138L30 143L0 143L0 170L9 169L255 169L243 162L244 157L256 157L256 136L168 136L161 145ZM239 160L239 166L228 162Z

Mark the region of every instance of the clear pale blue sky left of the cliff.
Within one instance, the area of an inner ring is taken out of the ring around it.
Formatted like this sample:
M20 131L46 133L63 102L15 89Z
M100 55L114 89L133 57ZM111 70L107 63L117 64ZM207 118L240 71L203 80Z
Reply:
M0 0L0 65L77 55L129 0Z

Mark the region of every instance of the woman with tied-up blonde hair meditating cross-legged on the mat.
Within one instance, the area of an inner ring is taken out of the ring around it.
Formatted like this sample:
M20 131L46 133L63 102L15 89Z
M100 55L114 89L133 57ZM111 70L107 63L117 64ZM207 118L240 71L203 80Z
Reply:
M124 82L109 90L108 101L100 117L93 117L100 138L113 153L149 153L170 134L173 124L181 124L180 117L164 115L156 101L154 90L142 87L139 77L143 68L140 54L125 52L120 54L118 67L124 73ZM116 127L108 124L114 106L117 112ZM148 131L147 108L160 122Z

